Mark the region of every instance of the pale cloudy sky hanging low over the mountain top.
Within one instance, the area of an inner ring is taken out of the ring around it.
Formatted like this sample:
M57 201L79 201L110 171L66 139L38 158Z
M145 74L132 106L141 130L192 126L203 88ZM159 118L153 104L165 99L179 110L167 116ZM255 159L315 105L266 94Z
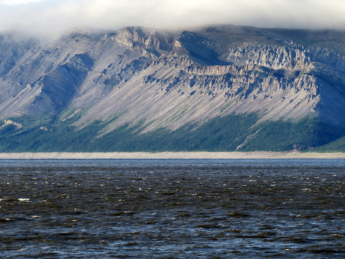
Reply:
M0 0L0 30L56 32L212 23L345 29L344 0Z

